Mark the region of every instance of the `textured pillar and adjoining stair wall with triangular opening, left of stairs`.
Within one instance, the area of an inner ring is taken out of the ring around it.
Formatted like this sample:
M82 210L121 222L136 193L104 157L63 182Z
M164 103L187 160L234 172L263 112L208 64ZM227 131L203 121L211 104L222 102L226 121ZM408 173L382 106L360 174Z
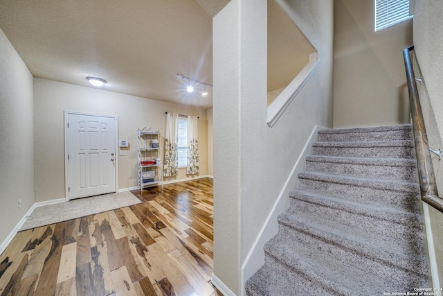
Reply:
M213 19L214 275L236 295L250 276L242 264L311 131L332 127L332 1L278 1L320 65L273 128L266 125L262 2L232 0Z

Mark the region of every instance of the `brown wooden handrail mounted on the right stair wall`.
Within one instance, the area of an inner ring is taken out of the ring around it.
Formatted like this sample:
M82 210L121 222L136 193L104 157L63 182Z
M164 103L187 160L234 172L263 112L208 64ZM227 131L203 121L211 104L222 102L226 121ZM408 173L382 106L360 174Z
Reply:
M443 213L443 199L438 196L437 192L437 183L435 182L431 153L429 153L422 106L420 105L413 65L410 60L410 51L413 49L413 45L404 49L403 57L406 68L406 80L408 82L410 113L413 118L415 154L417 155L420 191L424 202Z

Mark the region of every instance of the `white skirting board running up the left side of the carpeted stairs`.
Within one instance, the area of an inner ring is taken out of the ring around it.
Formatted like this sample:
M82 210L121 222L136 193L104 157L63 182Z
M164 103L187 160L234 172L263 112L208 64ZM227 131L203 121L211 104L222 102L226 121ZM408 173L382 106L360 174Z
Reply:
M264 243L269 241L273 236L275 236L275 234L278 233L277 217L287 209L287 205L289 204L289 191L296 189L298 186L297 175L305 169L305 158L311 153L311 145L317 139L318 130L325 129L326 128L322 128L317 125L314 127L314 130L312 130L311 135L305 143L305 147L303 147L296 163L293 165L291 173L289 173L286 182L284 182L284 186L280 191L271 212L266 218L262 229L260 229L251 250L248 252L248 256L246 256L246 259L244 260L241 271L242 286L244 286L246 280L257 272L257 270L259 270L264 264ZM242 295L244 295L244 290L242 291Z

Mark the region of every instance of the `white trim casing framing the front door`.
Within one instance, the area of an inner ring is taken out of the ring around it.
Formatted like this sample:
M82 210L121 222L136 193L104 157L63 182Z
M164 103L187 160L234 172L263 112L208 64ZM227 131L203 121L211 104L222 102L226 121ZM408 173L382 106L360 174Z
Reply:
M77 114L77 115L88 115L88 116L101 116L101 117L109 117L111 119L115 119L115 129L116 129L116 137L115 137L115 151L116 151L116 173L114 175L116 180L116 192L118 192L118 116L109 115L109 114L96 114L96 113L85 113L85 112L75 112L75 111L64 111L64 199L69 201L69 164L68 164L68 115L69 114Z

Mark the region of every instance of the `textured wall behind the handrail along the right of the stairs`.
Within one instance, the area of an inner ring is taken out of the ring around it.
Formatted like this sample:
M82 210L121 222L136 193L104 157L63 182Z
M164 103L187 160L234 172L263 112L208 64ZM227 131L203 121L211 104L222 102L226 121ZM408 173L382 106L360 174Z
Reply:
M415 55L424 85L418 83L429 146L442 148L443 138L443 2L414 1L413 35ZM416 76L417 76L417 72ZM443 196L443 161L432 156L437 189ZM431 227L440 285L443 283L443 214L430 210Z

